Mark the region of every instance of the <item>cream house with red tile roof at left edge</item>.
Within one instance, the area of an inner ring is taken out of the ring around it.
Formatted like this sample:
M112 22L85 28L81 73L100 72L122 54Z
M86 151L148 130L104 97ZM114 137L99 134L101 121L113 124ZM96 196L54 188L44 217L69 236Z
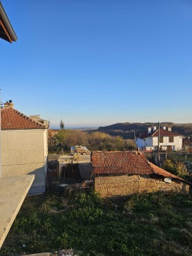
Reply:
M48 126L14 109L12 102L1 108L2 176L35 174L29 194L45 192L47 135Z

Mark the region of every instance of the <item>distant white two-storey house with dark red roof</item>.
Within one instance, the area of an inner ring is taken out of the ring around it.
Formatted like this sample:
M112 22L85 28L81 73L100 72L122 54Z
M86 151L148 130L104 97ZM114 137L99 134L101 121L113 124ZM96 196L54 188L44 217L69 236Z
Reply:
M159 149L174 151L182 150L182 135L171 131L171 127L157 129L157 126L149 127L147 131L136 136L136 146L139 150L157 150L159 137Z

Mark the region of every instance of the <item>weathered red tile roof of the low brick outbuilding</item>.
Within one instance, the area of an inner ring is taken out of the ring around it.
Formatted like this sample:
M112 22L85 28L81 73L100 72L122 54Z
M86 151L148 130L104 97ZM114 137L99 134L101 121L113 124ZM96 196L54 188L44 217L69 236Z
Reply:
M91 152L93 174L154 174L144 154L131 151Z

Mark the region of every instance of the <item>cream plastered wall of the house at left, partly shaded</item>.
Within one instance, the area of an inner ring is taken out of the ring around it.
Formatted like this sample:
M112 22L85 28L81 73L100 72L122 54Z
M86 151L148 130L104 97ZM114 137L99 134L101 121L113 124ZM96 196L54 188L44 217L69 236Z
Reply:
M47 130L2 130L2 176L35 174L29 194L45 192Z

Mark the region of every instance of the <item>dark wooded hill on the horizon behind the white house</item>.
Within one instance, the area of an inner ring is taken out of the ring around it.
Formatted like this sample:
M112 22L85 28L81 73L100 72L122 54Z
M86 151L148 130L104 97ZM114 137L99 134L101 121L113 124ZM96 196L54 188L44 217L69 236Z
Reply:
M121 136L123 139L134 139L134 131L136 134L144 132L147 130L149 126L153 126L154 123L147 122L147 123L117 123L112 124L110 126L100 126L97 131L99 132L106 132L112 136ZM190 136L192 137L192 124L174 124L172 122L162 122L161 127L171 126L173 132L178 132L180 135L183 136Z

